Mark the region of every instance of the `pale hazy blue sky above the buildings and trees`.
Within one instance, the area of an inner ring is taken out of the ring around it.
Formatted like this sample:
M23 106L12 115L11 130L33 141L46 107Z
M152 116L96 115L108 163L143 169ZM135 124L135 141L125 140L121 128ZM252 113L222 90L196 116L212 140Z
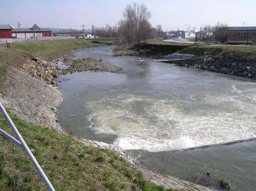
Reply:
M202 23L256 26L256 0L1 0L0 24L22 27L91 28L114 25L127 4L144 3L152 12L153 26L183 30Z

